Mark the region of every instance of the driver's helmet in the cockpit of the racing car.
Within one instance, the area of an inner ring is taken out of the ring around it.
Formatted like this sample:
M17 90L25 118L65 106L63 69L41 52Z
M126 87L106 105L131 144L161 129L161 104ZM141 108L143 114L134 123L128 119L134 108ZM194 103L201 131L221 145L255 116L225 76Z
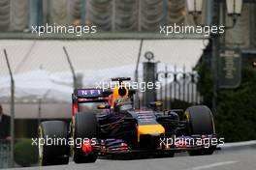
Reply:
M125 111L133 108L132 100L129 97L119 97L114 104L116 111Z

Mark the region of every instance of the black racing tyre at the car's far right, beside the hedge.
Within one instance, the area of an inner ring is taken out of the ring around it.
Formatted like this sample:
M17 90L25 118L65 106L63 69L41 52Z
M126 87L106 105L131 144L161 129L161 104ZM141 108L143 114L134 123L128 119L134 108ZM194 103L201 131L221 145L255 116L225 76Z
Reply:
M208 106L198 105L188 107L185 111L185 120L188 123L187 131L189 135L215 133L213 117ZM190 156L212 155L215 148L215 146L211 146L200 150L192 150L188 151L188 154Z

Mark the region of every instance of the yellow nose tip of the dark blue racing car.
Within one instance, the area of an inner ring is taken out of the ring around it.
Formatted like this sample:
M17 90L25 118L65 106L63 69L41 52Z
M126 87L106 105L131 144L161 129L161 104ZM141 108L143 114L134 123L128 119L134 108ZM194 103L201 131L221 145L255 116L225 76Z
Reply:
M138 141L140 142L140 135L142 134L161 134L165 133L165 128L161 125L141 125L138 126Z

